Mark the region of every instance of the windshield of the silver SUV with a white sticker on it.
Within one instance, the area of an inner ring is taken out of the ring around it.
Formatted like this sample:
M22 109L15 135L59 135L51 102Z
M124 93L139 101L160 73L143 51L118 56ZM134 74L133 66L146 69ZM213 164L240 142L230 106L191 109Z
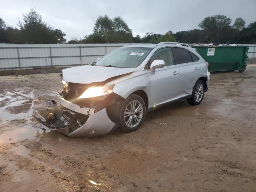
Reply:
M148 56L153 48L125 47L116 49L97 61L97 66L135 68Z

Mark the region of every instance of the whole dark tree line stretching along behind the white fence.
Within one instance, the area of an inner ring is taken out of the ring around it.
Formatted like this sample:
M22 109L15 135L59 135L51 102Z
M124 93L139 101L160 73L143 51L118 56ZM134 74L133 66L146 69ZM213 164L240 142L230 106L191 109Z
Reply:
M183 43L225 43L225 44L256 44L256 22L246 26L245 20L232 20L224 15L204 18L199 24L200 29L179 31L171 30L165 34L146 33L144 36L132 35L132 29L119 16L109 18L99 16L94 23L93 33L78 40L72 37L68 44L77 43L159 43L163 41ZM14 44L56 44L66 43L66 34L60 29L48 25L42 16L31 8L18 21L19 28L6 26L0 18L0 43Z

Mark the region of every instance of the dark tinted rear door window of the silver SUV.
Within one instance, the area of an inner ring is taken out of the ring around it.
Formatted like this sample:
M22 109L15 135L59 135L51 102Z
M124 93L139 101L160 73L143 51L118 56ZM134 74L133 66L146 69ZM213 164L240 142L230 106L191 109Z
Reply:
M192 57L188 50L179 47L172 47L175 64L192 62Z

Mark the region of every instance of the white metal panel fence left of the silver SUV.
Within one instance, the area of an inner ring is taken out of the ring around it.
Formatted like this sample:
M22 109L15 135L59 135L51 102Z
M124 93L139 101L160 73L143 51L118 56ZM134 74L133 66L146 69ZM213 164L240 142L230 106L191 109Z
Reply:
M92 63L125 44L0 44L0 70Z

